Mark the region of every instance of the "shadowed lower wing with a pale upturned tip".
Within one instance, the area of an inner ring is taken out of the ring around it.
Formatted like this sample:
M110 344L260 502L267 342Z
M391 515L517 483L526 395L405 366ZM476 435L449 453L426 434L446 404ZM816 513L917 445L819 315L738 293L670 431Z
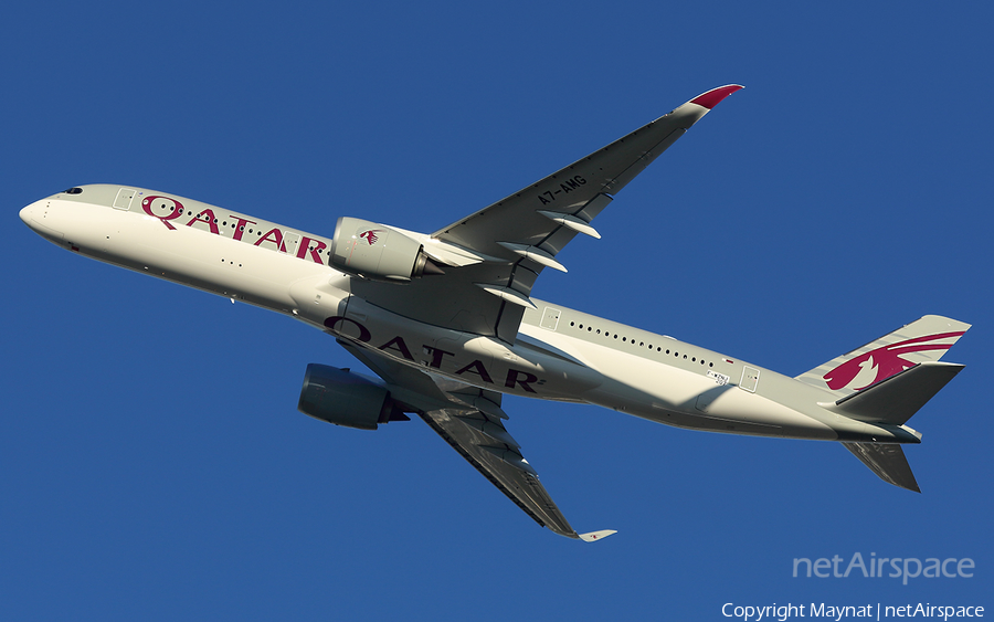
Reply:
M501 420L500 393L435 378L341 341L352 356L380 376L394 400L427 423L484 477L542 527L569 538L593 541L612 530L578 534L521 455L521 446Z

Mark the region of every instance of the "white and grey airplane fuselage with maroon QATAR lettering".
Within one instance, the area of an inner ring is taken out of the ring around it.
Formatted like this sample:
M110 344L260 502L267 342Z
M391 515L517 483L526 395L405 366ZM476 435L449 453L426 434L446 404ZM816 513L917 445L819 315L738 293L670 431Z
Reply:
M355 277L328 265L328 238L171 194L85 188L32 203L21 218L74 252L289 315L434 375L697 430L911 439L832 412L828 391L551 303L533 299L514 345L409 319L351 294Z

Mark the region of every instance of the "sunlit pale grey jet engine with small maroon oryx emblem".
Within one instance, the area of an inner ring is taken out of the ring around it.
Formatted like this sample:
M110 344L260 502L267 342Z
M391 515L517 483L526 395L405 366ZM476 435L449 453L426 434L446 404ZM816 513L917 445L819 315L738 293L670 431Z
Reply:
M371 281L406 283L426 274L444 274L417 240L382 224L342 217L331 239L332 266Z

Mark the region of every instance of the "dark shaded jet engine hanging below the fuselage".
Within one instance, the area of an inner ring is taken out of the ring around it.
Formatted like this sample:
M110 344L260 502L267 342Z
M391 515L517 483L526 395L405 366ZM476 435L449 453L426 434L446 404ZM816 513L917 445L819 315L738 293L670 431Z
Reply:
M297 410L347 428L376 430L378 423L409 421L390 391L348 369L310 363Z

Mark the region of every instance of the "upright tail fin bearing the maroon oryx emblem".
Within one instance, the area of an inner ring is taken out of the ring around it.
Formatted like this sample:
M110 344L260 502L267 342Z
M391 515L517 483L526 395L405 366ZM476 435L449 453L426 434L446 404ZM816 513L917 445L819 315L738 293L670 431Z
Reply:
M796 379L845 398L918 363L939 360L969 328L955 319L927 315Z

